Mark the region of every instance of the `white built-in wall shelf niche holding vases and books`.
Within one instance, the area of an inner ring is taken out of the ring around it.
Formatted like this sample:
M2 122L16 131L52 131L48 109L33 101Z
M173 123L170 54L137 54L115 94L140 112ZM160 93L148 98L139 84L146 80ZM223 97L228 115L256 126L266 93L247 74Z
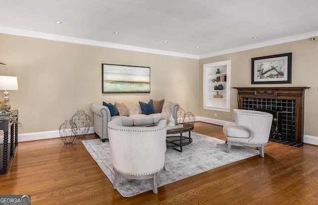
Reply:
M203 65L203 109L230 112L230 74L231 60ZM223 89L215 90L219 85Z

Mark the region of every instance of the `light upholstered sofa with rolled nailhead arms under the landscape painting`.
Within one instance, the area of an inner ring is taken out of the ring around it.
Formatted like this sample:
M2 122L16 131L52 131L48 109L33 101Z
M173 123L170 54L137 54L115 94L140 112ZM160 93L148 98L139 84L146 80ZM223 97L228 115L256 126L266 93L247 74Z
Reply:
M90 110L93 113L94 119L94 132L95 135L100 137L102 142L105 142L108 139L108 132L107 132L107 124L113 119L119 118L122 122L122 126L145 126L154 123L158 123L159 119L162 118L161 113L154 113L154 114L142 114L142 110L140 107L139 102L124 102L125 105L128 107L130 115L129 116L120 116L110 115L110 110L107 106L104 106L99 103L92 103L90 105ZM169 111L172 114L172 117L177 122L177 111L179 109L179 104L170 102L169 103ZM162 108L163 110L163 108Z

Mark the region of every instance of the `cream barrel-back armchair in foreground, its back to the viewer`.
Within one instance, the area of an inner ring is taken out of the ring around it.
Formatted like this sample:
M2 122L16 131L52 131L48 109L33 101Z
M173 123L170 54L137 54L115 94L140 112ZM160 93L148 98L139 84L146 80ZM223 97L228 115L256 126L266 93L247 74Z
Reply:
M151 179L153 192L158 193L157 177L164 169L166 120L155 127L124 127L120 119L108 125L110 158L114 170L114 189L121 177Z

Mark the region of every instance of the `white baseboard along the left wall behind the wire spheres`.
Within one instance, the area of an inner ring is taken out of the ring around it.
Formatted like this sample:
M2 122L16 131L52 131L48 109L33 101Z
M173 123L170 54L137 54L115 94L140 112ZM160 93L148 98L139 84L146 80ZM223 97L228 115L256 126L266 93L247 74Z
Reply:
M90 127L87 134L94 133L94 127ZM18 135L19 142L34 141L34 140L45 140L51 138L60 137L59 130L47 131L47 132L33 132L23 133ZM0 144L3 144L3 135L0 136Z

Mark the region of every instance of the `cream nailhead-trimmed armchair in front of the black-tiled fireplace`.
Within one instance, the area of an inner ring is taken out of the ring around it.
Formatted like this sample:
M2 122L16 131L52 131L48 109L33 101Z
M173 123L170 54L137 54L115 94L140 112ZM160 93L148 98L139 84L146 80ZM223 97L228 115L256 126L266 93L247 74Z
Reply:
M231 146L243 145L256 147L261 157L264 157L264 147L267 145L273 115L267 112L233 109L235 122L225 123L223 132L228 144L227 153Z

